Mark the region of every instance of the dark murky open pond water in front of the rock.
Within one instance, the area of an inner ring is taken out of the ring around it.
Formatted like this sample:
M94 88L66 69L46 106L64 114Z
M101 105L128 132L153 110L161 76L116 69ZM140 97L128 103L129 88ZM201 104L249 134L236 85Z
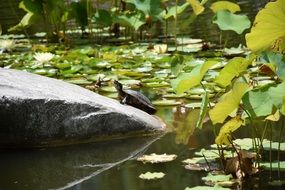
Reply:
M194 152L214 143L211 125L189 134L187 120L193 110L160 108L158 115L168 123L172 132L161 136L130 138L94 144L82 144L36 150L2 150L0 152L0 189L11 190L173 190L203 185L207 172L184 168L183 160ZM169 117L172 114L174 117ZM167 117L167 118L166 118ZM184 118L184 119L183 119ZM191 131L191 130L190 130ZM237 137L250 136L245 127ZM278 138L279 129L273 130ZM184 143L182 143L184 142ZM143 154L176 154L172 162L144 164L136 160ZM276 155L273 156L276 159ZM281 153L281 158L285 154ZM266 156L268 160L268 155ZM143 180L139 175L146 172L163 172L159 180ZM243 184L243 189L283 189L270 186L272 179L284 179L285 173L261 172Z

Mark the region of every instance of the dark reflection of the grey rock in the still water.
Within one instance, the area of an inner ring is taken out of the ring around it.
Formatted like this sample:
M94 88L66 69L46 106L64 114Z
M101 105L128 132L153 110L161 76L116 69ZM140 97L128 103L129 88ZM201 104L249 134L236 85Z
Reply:
M0 152L0 189L65 189L141 153L158 137Z

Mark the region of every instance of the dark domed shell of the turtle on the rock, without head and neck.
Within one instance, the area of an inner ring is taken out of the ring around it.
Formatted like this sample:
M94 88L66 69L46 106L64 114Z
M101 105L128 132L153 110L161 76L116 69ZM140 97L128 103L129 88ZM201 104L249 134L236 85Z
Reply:
M134 90L124 90L124 92L126 93L124 100L125 104L141 109L149 114L154 114L156 112L156 109L150 100L142 93Z

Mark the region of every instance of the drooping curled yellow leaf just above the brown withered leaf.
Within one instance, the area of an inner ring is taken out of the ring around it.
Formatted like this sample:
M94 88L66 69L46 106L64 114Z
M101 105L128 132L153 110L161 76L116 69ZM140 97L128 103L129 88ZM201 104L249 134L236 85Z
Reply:
M237 130L243 124L243 120L234 117L225 123L220 129L219 135L216 137L217 144L230 145L231 133Z

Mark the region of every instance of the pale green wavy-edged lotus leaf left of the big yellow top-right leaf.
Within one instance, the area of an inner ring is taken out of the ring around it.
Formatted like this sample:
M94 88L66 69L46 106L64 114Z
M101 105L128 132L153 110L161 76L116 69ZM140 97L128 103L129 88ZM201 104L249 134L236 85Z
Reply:
M217 24L221 30L232 30L238 34L250 27L250 20L246 15L233 14L228 10L218 11L213 23Z

